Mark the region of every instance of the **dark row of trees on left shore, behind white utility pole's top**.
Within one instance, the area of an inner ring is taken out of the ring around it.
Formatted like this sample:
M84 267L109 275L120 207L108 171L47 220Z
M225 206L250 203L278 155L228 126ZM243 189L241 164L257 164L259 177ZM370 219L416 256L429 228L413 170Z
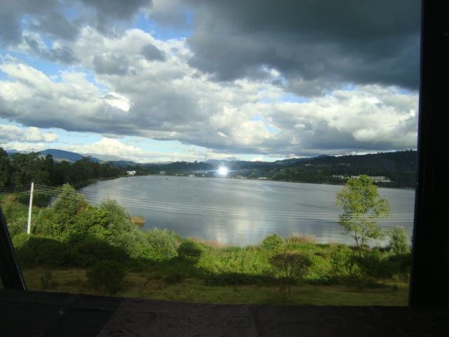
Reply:
M86 185L91 180L117 178L126 174L113 164L96 163L84 157L74 163L56 162L51 154L45 157L39 152L27 154L8 153L0 147L0 188L27 185L34 181L41 185L63 185L70 183L76 187Z

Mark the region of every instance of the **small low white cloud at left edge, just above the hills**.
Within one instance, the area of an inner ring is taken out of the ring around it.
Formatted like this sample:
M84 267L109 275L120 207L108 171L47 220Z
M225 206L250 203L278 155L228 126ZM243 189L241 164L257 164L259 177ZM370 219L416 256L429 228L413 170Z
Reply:
M10 141L52 143L56 140L58 140L58 135L56 133L42 132L39 128L30 127L22 129L18 126L0 124L0 141L2 143Z

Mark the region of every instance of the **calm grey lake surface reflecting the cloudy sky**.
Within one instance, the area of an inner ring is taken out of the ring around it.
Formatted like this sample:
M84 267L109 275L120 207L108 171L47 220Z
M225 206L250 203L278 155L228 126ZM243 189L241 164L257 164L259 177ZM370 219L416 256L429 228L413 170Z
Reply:
M340 185L232 178L138 176L103 180L81 189L92 199L110 197L152 227L223 244L257 244L268 234L314 235L317 242L353 243L337 223ZM414 190L379 188L393 216L382 227L413 229ZM93 201L95 204L95 200Z

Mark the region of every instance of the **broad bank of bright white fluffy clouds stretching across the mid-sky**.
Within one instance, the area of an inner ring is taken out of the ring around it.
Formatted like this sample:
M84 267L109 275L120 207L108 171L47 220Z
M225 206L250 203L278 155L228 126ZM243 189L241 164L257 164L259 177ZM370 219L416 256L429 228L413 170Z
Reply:
M280 80L275 70L267 70L264 80L210 81L189 65L192 51L185 39L161 41L140 29L106 37L84 27L67 46L86 73L75 68L53 79L18 59L4 59L0 70L9 79L0 81L0 117L109 137L179 140L229 156L416 146L417 94L395 86L359 85L292 102L274 84ZM145 55L145 46L154 46L160 57ZM88 70L100 86L88 79ZM109 153L109 145L99 144L96 152L148 157L119 144L121 154Z

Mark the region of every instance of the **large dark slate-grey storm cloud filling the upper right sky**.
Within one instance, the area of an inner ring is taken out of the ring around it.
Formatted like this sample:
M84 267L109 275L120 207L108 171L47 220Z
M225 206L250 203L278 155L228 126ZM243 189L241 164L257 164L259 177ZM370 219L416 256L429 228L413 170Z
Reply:
M417 89L420 1L190 4L196 9L190 64L218 81L259 78L268 67L304 95L342 82Z

